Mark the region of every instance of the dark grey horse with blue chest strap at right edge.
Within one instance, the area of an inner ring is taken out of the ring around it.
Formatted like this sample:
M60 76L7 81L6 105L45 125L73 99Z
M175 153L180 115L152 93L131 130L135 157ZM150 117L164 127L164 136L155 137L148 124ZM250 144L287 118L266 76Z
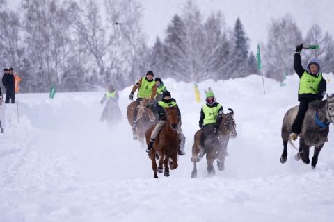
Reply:
M285 113L282 124L282 139L283 139L283 153L280 157L280 162L287 161L287 142L292 143L289 135L292 133L292 123L296 119L298 112L298 105L290 108ZM334 94L326 95L324 101L312 101L308 105L306 111L301 133L299 134L299 151L295 155L295 160L303 160L305 164L310 164L310 147L315 146L315 152L312 157L312 169L318 162L318 155L321 148L324 146L328 133L329 124L334 121ZM293 144L292 144L293 145Z

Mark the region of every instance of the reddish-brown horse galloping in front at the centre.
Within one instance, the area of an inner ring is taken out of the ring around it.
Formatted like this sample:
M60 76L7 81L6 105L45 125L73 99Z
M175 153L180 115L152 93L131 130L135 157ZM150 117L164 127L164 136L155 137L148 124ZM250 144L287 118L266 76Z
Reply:
M178 112L176 107L165 108L167 122L160 130L160 133L155 139L153 148L150 152L152 160L152 169L154 171L154 178L158 178L157 171L162 173L164 164L164 176L169 176L168 162L171 159L170 169L177 168L177 148L179 147L179 137L177 136L177 124L179 122ZM155 125L154 125L155 126ZM151 126L146 131L146 143L150 143L150 137L154 126ZM155 160L156 153L159 153L159 166Z

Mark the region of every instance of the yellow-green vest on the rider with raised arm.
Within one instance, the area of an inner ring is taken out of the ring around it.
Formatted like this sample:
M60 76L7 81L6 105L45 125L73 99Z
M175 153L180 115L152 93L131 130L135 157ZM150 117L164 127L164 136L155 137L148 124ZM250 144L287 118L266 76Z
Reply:
M322 74L312 76L304 71L301 80L299 80L299 94L318 94L321 79Z

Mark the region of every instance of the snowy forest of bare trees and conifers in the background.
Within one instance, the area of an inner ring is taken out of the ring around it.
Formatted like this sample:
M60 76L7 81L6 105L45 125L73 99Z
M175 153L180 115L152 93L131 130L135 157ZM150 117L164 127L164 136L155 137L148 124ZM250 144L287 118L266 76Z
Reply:
M48 92L51 85L61 92L109 84L124 89L148 69L186 83L258 73L241 19L228 27L223 11L203 15L192 1L183 8L170 18L164 38L148 46L140 1L22 0L11 10L0 0L0 64L19 74L21 92ZM319 44L304 56L321 59L322 70L334 72L328 31L314 24L303 37L292 15L268 23L267 42L259 43L264 76L294 74L292 50L303 42Z

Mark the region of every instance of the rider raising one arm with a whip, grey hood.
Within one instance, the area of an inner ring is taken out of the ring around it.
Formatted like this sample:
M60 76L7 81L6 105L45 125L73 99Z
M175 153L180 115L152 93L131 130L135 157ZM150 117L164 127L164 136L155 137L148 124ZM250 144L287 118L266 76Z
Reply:
M292 134L290 139L297 139L301 133L301 126L308 110L308 103L315 99L322 100L326 94L326 80L322 77L320 61L317 58L310 58L306 70L301 65L301 49L303 44L296 46L294 54L294 70L299 78L298 101L299 108L296 119L292 124Z

